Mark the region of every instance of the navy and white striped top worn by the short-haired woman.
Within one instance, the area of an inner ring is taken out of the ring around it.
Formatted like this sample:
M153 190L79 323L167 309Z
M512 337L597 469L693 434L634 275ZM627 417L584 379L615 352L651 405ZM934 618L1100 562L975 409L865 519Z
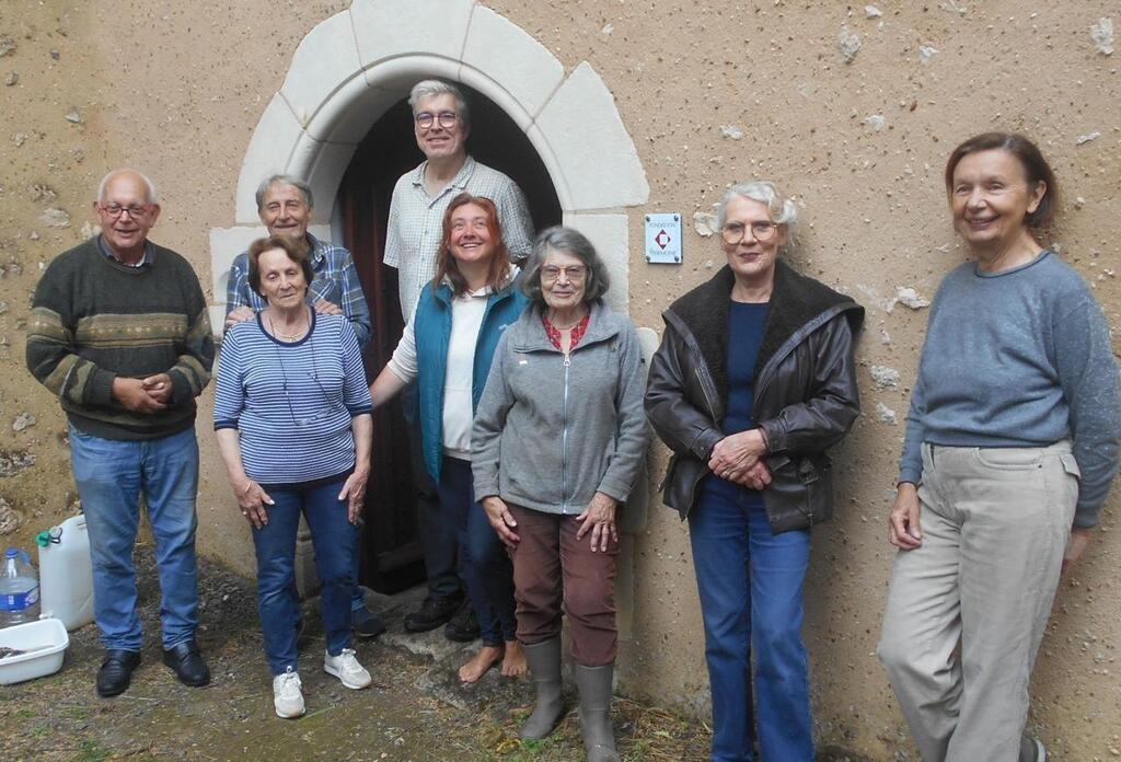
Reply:
M274 338L257 319L222 342L214 428L238 429L245 475L298 484L354 467L351 419L371 412L358 338L341 315L312 313L298 342Z

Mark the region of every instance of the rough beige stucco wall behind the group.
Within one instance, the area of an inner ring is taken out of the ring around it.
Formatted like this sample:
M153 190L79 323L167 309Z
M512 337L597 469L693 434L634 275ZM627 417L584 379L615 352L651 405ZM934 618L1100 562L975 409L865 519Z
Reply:
M6 541L28 547L73 498L63 416L22 363L22 326L41 263L85 236L98 179L129 164L160 186L164 215L154 238L186 254L206 288L207 231L233 223L252 129L303 36L346 4L0 7L0 49L4 38L15 44L0 57L0 81L18 72L16 84L0 85L0 299L7 306L0 310L0 450L37 458L0 476L0 496L26 520ZM929 298L962 257L939 179L948 151L985 129L1018 129L1041 143L1065 192L1060 223L1047 241L1062 245L1095 288L1111 326L1121 329L1113 277L1121 251L1111 235L1121 219L1121 81L1118 54L1102 54L1090 30L1111 13L1121 22L1115 2L882 2L879 18L867 18L862 6L784 0L488 4L569 71L590 62L617 97L651 188L647 206L630 211L638 325L660 331L659 310L722 259L713 239L687 230L684 266L646 264L642 212L689 219L711 211L728 183L749 177L771 177L804 204L795 263L869 308L859 347L865 412L835 452L839 517L815 532L806 630L823 742L873 759L906 750L873 650L892 555L884 517L926 312L888 305L899 286ZM119 36L121 19L138 30L135 37ZM862 41L847 64L839 52L842 27ZM937 53L923 63L920 46ZM67 113L81 121L67 121ZM869 117L882 117L880 129ZM725 126L742 137L725 137ZM1100 137L1078 145L1094 132ZM44 217L48 208L66 211L68 226L53 227L55 217ZM1121 346L1117 338L1114 346ZM877 388L873 365L897 370L898 387ZM878 403L899 422L881 420ZM13 431L10 424L24 412L37 422ZM205 426L209 401L200 418L200 547L249 570L248 536L231 515ZM655 453L657 482L665 457L660 448ZM1058 759L1112 759L1121 747L1117 494L1085 561L1062 585L1035 672L1032 723ZM638 603L621 657L622 685L703 709L707 682L687 537L667 509L654 505L649 515L638 539Z

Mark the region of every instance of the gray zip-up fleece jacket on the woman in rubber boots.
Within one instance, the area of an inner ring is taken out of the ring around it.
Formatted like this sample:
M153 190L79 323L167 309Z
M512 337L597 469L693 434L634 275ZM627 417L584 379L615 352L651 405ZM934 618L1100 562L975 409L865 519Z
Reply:
M649 436L642 364L634 326L602 303L567 361L527 308L499 342L475 412L475 500L566 514L595 492L626 501Z

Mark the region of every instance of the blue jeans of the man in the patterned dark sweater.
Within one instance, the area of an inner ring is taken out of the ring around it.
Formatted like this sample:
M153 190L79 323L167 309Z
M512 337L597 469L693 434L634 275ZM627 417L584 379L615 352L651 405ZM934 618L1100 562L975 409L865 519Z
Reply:
M195 494L198 443L194 428L159 439L103 439L70 427L71 462L90 533L93 615L106 649L139 651L132 563L140 493L156 540L164 648L191 640L198 625Z

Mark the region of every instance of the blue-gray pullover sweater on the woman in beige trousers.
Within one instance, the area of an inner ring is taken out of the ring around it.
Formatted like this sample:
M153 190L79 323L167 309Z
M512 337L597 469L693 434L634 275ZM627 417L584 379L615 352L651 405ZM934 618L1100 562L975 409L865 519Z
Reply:
M1032 447L1067 437L1082 471L1074 523L1092 527L1118 470L1121 400L1109 326L1086 285L1049 251L1006 272L955 268L930 309L899 481L920 480L924 442Z

